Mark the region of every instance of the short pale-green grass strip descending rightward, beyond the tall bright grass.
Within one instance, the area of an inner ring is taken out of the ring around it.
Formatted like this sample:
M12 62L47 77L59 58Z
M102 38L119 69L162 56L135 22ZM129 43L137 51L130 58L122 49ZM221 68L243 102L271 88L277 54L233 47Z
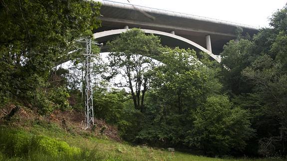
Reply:
M1 126L0 129L8 129L10 127ZM16 128L29 133L31 135L41 135L55 138L57 140L65 141L70 146L79 147L82 150L88 149L96 152L97 158L95 160L105 161L233 161L234 159L217 159L207 158L202 156L195 156L191 154L185 154L175 152L174 155L171 152L164 150L153 149L149 147L130 146L126 143L118 143L106 139L105 137L94 137L88 132L82 132L81 134L75 134L73 132L66 132L55 124L41 123L34 124L30 127ZM66 160L64 158L51 159L48 156L32 157L30 160ZM0 160L7 160L2 154L0 154ZM9 160L26 160L21 158L11 158ZM275 160L275 159L273 159ZM250 159L241 159L238 161L250 161ZM257 160L263 161L263 160ZM265 159L265 161L270 161Z

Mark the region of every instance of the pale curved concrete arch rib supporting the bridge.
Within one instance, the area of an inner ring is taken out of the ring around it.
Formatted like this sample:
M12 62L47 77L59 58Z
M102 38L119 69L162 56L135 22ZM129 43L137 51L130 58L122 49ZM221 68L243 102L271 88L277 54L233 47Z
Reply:
M122 32L125 32L129 29L114 29L114 30L107 30L107 31L102 31L102 32L97 32L93 34L93 37L95 39L97 38L101 38L101 37L105 37L105 36L111 36L111 35L117 35L120 34ZM175 38L181 41L184 41L198 49L200 49L203 52L206 52L208 55L210 55L212 58L214 58L217 62L221 62L221 57L219 55L215 55L212 52L208 51L206 48L202 47L201 45L178 35L172 34L172 33L168 33L168 32L163 32L163 31L157 31L157 30L151 30L151 29L142 29L145 33L153 33L153 34L157 34L157 35L163 35L163 36L168 36L171 38Z

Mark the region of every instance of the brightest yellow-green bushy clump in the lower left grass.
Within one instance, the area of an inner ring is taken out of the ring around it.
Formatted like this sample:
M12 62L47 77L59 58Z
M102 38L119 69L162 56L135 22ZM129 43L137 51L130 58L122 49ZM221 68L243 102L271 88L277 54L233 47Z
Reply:
M20 130L0 130L0 152L7 156L27 157L41 153L51 157L75 156L79 148L70 147L66 142L46 136L32 136Z

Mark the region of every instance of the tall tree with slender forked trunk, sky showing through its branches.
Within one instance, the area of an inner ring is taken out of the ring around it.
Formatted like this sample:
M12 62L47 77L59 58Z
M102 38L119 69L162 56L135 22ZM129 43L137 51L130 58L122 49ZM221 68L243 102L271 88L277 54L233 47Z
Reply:
M129 88L135 109L143 112L145 93L149 89L151 72L156 65L152 57L160 53L160 39L134 28L121 33L107 45L111 77L122 75L125 81L116 85Z

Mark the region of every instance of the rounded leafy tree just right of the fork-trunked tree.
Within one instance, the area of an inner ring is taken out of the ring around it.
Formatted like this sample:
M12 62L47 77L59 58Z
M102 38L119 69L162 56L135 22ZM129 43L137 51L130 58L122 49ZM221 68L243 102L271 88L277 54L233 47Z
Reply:
M201 95L204 88L203 79L199 70L200 66L194 50L166 48L160 55L161 65L155 68L153 79L154 88L159 89L163 96L160 100L166 100L168 106L177 106L178 114L183 113L183 107L191 102L186 100ZM171 99L172 98L172 99Z

